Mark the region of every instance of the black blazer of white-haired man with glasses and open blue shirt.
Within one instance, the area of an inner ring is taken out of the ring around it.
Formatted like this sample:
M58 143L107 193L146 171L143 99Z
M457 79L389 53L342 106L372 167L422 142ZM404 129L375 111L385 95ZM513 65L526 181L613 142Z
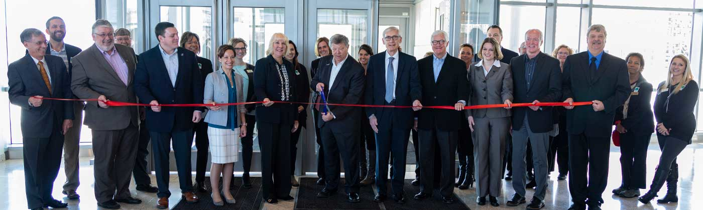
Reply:
M423 85L423 106L454 106L458 101L469 102L469 80L466 63L447 54L434 82L434 56L418 60L420 83ZM418 128L444 131L459 130L463 111L449 109L421 109L418 111Z

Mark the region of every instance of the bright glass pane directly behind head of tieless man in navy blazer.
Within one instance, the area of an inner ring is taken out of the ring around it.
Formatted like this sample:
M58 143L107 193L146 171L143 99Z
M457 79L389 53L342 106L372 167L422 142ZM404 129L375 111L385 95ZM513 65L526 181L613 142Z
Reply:
M212 15L210 7L203 6L161 6L160 21L176 25L179 36L191 31L200 37L198 56L212 60Z

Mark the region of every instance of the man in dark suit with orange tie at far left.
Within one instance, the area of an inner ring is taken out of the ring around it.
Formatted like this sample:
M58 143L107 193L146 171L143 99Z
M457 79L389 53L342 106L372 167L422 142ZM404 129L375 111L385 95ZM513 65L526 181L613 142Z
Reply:
M72 127L71 102L44 101L43 97L72 99L70 78L60 57L46 55L46 36L39 29L20 34L28 54L8 65L10 102L22 107L22 151L25 193L29 209L65 208L51 190L61 165L63 135Z

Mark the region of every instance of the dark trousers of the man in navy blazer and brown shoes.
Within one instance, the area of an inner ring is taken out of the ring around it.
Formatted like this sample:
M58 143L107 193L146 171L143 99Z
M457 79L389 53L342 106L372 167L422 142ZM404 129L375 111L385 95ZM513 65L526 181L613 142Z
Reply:
M169 154L171 146L176 158L179 186L181 193L193 192L191 180L191 145L193 145L193 130L180 130L172 132L150 132L151 146L154 151L154 167L156 170L156 184L159 187L157 197L170 197L169 190Z

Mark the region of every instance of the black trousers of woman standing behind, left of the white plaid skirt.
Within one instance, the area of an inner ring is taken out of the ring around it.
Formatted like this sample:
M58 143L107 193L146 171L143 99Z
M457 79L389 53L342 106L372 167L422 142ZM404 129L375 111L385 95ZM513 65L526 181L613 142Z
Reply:
M193 126L193 134L195 135L195 148L198 152L195 153L195 182L200 183L205 181L205 170L207 170L207 156L209 151L209 139L207 139L207 123L200 121ZM191 137L193 139L193 137Z

